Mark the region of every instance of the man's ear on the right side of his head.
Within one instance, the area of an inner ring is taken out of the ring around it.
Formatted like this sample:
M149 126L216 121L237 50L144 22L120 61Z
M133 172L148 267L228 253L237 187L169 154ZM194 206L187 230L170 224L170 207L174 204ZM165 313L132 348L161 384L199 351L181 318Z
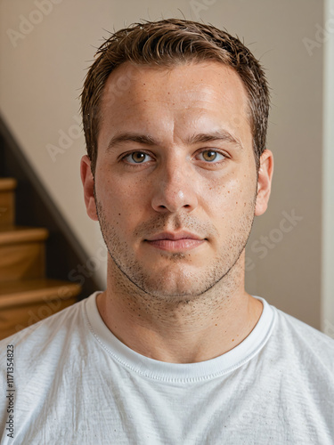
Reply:
M265 150L260 158L260 168L257 179L257 203L255 215L264 214L268 206L273 179L273 153Z

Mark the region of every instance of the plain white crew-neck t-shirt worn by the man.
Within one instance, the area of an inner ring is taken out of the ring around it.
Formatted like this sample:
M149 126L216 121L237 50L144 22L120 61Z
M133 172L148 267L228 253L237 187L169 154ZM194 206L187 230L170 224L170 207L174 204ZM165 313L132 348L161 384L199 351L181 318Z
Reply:
M260 320L231 351L167 363L121 343L97 294L0 342L2 445L334 443L329 336L257 297Z

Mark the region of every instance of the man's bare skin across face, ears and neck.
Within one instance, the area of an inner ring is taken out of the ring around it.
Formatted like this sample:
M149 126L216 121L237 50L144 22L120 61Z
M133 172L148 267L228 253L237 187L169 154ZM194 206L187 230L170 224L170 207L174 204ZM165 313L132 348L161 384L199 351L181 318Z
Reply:
M245 246L273 175L270 150L257 175L240 77L217 61L126 62L107 80L101 116L94 177L86 156L81 177L87 214L100 221L110 253L97 297L102 320L155 360L230 351L263 310L245 291ZM166 233L183 241L153 240Z

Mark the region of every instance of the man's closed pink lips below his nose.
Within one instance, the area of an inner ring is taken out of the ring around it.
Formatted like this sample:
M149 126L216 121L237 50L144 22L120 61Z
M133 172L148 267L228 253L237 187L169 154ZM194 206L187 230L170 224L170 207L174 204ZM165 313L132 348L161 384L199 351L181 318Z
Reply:
M145 239L151 247L170 252L180 252L200 247L208 239L203 239L190 232L180 231L177 233L164 232Z

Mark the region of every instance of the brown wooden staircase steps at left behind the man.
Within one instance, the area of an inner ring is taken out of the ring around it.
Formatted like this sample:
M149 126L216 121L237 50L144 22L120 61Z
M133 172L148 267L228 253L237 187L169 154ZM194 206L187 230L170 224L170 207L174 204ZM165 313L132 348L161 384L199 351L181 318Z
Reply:
M0 339L77 302L77 283L45 278L48 231L14 225L17 182L0 178Z

